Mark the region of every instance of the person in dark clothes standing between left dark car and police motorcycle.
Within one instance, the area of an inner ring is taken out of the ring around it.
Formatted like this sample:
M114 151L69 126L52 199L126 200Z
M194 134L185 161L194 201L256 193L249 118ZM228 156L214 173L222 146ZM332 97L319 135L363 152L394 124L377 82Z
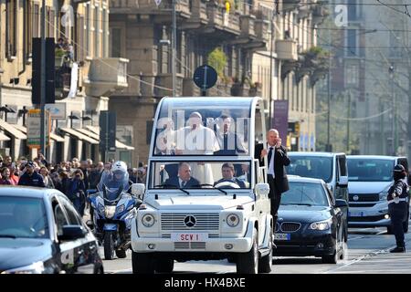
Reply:
M84 185L83 172L80 170L73 172L73 178L69 180L66 195L79 214L83 216L86 206L86 186Z

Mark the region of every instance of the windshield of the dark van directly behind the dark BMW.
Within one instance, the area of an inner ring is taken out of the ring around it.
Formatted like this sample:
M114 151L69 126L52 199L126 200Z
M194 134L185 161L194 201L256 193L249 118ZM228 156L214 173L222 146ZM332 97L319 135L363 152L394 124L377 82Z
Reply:
M290 157L290 165L287 166L287 174L299 175L322 179L325 183L332 180L332 157L319 156L293 156Z

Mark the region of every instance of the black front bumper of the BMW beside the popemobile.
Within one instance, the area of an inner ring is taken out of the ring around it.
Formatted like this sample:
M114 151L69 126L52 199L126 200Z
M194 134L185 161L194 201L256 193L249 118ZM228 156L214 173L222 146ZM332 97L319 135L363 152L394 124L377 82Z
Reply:
M275 240L277 248L273 255L277 256L322 256L332 255L335 238L331 231L308 231L290 234L290 240Z

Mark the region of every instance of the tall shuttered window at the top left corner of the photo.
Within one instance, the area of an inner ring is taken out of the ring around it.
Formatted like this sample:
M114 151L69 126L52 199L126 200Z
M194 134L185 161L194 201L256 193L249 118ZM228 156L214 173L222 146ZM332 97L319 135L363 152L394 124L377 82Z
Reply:
M16 57L16 30L17 30L17 3L16 0L5 2L5 57Z

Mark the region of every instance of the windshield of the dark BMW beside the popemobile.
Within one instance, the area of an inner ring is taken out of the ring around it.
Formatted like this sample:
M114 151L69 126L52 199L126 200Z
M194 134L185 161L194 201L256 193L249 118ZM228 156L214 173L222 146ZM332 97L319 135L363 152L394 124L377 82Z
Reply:
M290 182L290 190L281 196L281 205L327 206L327 196L321 183Z

